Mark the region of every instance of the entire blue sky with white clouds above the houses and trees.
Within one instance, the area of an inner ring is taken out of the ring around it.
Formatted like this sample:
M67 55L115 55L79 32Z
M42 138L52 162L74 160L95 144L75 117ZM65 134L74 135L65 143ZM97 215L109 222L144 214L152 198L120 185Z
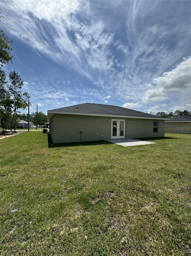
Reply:
M191 1L1 0L32 104L191 110Z

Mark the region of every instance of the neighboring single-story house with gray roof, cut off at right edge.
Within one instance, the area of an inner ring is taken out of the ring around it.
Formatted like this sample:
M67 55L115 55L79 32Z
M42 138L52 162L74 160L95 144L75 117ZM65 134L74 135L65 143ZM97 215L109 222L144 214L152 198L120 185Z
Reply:
M172 115L165 120L165 132L191 134L191 116Z

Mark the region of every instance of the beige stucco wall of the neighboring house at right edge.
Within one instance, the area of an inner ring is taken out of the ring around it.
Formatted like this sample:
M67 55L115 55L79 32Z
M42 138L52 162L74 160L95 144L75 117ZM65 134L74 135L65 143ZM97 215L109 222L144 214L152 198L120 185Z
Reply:
M165 123L165 132L191 134L191 122Z

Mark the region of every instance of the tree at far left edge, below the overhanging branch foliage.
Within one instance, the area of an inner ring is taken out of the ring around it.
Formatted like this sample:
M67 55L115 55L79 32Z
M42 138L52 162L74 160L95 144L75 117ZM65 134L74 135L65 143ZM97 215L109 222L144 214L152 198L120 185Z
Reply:
M0 126L2 127L3 133L4 129L8 128L10 124L13 104L11 95L5 88L5 85L7 85L5 79L5 72L0 69Z

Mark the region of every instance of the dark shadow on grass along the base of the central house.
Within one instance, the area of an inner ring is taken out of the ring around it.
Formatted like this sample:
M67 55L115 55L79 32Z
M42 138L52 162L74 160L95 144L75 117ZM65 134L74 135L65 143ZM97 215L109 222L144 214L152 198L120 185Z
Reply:
M103 145L113 144L108 141L84 141L84 142L71 142L71 143L53 143L50 133L47 133L48 147L74 147L74 146L89 146L89 145Z

